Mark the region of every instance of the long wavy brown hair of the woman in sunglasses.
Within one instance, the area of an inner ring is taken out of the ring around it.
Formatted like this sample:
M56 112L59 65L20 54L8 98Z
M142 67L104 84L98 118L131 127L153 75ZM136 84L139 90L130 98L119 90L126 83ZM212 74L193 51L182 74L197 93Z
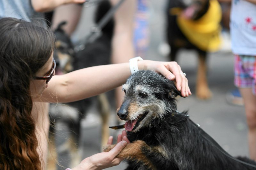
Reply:
M1 170L42 169L29 85L50 58L54 43L54 34L43 25L0 19Z

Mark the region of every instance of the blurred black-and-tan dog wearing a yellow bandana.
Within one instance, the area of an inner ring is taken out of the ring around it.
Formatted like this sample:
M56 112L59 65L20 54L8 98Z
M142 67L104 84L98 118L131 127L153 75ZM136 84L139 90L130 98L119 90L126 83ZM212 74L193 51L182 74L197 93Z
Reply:
M217 0L169 0L167 5L167 42L170 60L176 61L181 48L198 53L196 96L208 99L212 93L207 83L207 53L220 45L221 8ZM189 60L189 59L188 59Z

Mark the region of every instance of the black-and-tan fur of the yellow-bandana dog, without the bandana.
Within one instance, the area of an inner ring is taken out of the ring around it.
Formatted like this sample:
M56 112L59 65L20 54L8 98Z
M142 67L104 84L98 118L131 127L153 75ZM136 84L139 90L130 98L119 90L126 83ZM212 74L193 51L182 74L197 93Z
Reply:
M177 61L177 53L182 48L195 50L198 54L196 96L199 99L209 99L212 96L207 82L208 51L200 49L196 44L189 41L189 38L185 36L180 26L177 24L177 15L185 10L193 11L191 9L194 9L193 14L190 16L190 21L196 22L204 17L205 13L208 11L209 2L210 0L191 0L190 2L185 0L168 0L166 11L167 42L171 47L170 60ZM220 23L218 24L220 25ZM189 60L189 58L187 58L187 60Z

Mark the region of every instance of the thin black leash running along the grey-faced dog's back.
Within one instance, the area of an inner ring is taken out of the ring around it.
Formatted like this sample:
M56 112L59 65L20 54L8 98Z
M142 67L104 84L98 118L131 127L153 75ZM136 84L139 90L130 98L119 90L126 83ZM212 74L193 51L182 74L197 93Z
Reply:
M198 125L193 122L192 120L189 119L189 121L191 121L196 127L198 127ZM240 162L241 164L244 164L244 165L247 165L247 166L251 166L251 167L254 167L256 168L255 165L252 165L248 162L244 162L242 160L239 160L239 159L236 159L235 157L231 156L230 154L228 154L228 152L226 152L214 139L212 139L212 137L210 135L208 135L203 129L201 129L200 127L199 128L199 132L200 132L200 135L202 135L202 137L207 140L210 144L212 144L213 147L215 147L216 149L218 149L223 155L227 156L228 158L230 159L233 159L237 162Z

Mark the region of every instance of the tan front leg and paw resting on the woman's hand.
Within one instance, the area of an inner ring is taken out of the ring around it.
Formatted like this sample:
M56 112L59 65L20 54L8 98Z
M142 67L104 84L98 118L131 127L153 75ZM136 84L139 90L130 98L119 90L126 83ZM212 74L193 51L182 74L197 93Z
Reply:
M104 152L110 151L115 145L106 145L103 148ZM126 160L133 160L133 161L141 161L149 169L156 170L156 167L151 163L150 160L142 153L141 149L148 149L151 150L150 147L142 140L136 140L130 144L127 144L124 149L116 156L117 158L122 158Z

